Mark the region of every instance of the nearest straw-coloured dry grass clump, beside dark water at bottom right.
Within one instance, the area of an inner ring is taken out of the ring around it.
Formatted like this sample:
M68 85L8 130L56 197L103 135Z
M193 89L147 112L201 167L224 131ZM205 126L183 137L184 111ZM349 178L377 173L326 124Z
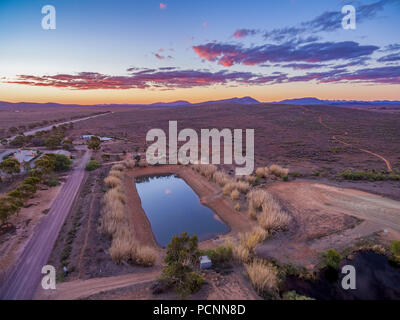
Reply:
M263 260L253 260L246 264L246 271L254 289L259 293L265 292L274 295L278 291L278 272Z

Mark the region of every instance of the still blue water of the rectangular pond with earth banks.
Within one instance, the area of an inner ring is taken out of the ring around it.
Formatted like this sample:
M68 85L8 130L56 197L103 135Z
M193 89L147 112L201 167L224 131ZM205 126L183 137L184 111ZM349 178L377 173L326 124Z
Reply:
M176 175L140 177L136 189L159 245L166 247L174 235L196 234L199 241L229 232L229 227Z

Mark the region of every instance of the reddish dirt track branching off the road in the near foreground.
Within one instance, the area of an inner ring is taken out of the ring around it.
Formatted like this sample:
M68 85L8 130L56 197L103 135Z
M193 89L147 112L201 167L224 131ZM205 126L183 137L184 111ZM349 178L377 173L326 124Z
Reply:
M161 275L160 269L148 272L126 274L116 277L74 280L57 284L56 290L38 288L35 300L77 300L113 289L154 281Z

